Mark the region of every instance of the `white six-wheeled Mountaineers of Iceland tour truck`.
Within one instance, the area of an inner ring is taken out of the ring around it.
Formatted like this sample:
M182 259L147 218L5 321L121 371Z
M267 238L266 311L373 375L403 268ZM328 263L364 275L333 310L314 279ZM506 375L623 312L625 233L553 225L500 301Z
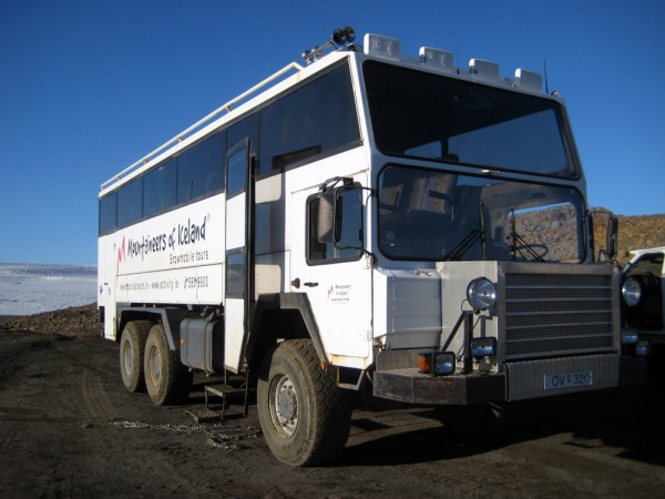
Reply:
M618 275L542 79L350 28L102 184L99 308L132 391L257 373L290 465L351 394L482 407L617 385Z

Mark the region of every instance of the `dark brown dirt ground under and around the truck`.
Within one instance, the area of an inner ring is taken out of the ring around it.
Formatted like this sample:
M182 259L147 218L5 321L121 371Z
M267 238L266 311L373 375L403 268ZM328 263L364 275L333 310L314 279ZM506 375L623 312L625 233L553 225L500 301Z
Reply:
M663 386L530 401L494 439L454 434L429 408L357 410L337 461L291 468L268 450L255 406L247 418L232 405L223 424L197 425L185 409L203 407L202 379L184 407L126 391L117 346L98 336L93 316L63 319L62 334L0 317L0 497L665 493Z

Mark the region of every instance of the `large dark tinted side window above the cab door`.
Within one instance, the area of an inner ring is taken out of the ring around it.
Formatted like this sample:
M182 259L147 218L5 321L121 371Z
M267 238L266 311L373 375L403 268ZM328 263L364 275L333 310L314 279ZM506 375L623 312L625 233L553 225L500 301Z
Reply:
M348 65L317 78L260 112L259 172L360 139Z

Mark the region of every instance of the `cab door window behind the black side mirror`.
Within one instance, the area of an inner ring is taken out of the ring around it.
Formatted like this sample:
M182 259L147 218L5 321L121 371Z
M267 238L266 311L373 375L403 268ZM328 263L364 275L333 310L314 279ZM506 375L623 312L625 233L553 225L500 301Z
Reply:
M317 240L319 200L307 201L307 258L310 265L358 259L362 255L362 191L350 189L337 195L337 244Z

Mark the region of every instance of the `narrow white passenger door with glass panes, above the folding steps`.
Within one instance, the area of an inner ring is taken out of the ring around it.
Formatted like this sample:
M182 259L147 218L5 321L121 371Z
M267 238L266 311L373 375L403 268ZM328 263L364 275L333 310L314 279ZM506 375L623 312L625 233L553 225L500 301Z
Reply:
M224 304L224 367L241 369L252 296L252 161L249 140L226 154L226 301Z

